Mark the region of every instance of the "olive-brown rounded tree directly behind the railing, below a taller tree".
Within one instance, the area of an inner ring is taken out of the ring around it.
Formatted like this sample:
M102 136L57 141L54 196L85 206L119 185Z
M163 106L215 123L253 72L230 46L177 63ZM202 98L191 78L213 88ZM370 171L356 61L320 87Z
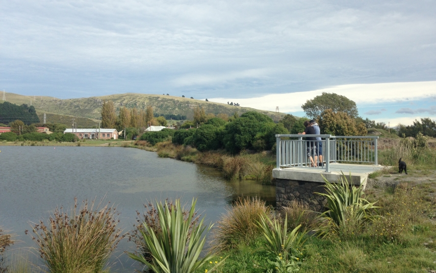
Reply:
M319 127L322 134L331 135L367 135L368 131L363 122L358 124L347 113L325 110L321 114Z

